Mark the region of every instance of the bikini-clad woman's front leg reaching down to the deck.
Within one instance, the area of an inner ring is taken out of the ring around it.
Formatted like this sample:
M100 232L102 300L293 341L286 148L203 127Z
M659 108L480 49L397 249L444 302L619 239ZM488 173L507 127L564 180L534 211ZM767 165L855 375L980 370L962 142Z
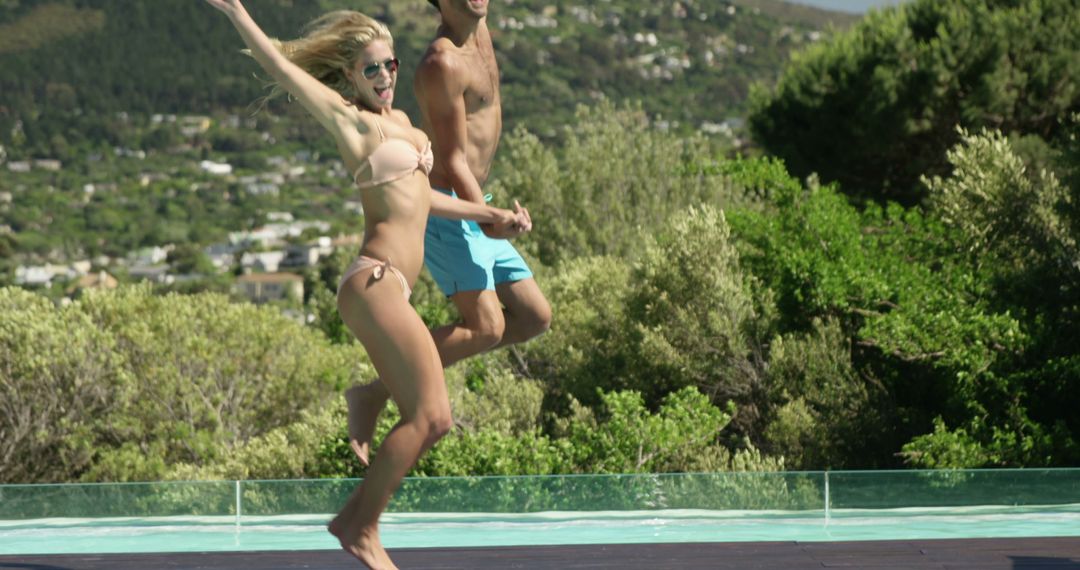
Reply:
M379 446L363 483L330 531L372 568L393 568L378 539L379 515L420 454L453 425L438 351L396 280L357 276L338 297L346 325L367 349L402 419Z

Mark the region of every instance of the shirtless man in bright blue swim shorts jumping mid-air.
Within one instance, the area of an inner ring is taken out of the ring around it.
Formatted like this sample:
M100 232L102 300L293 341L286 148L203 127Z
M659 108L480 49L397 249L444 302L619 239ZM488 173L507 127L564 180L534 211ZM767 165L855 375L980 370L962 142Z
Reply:
M487 29L487 0L428 0L442 25L420 62L416 97L435 153L434 191L483 204L502 132L499 68ZM509 235L514 235L510 233ZM428 219L424 264L461 315L431 331L443 366L524 342L551 325L551 306L510 242L491 227ZM376 419L386 405L380 382L350 389L349 439L367 464Z

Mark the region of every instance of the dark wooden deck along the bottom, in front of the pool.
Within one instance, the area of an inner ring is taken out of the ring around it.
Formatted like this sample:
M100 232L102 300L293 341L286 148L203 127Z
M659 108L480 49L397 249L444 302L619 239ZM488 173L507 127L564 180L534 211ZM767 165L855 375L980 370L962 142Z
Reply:
M399 548L402 570L1080 570L1080 538ZM0 556L19 570L357 569L340 551Z

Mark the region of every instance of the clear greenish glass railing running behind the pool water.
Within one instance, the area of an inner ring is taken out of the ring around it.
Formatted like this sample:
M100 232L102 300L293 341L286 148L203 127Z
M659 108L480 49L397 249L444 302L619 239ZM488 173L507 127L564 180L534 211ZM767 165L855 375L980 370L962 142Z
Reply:
M359 479L0 486L0 520L330 514ZM388 513L752 511L1080 505L1080 469L407 478Z

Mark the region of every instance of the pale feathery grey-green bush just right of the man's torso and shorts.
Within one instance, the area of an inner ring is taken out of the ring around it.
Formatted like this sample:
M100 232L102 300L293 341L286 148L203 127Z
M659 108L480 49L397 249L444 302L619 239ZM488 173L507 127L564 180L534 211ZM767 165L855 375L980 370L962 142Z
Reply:
M734 195L726 180L688 167L710 162L706 139L660 131L640 107L579 107L564 135L555 151L515 130L500 151L512 166L490 185L496 196L529 208L537 223L521 246L544 264L632 257L673 214Z

